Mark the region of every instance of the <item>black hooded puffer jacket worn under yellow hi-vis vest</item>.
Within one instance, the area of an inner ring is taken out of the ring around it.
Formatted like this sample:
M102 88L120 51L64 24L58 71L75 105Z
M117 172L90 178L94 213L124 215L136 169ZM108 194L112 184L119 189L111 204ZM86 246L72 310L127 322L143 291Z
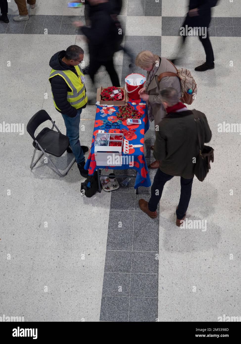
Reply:
M65 50L59 51L54 54L50 59L50 67L56 69L57 71L67 71L70 70L76 75L76 69L74 66L68 66L62 61L65 55ZM56 75L50 79L51 89L54 97L55 104L61 111L62 114L68 115L69 117L75 117L77 115L77 109L69 104L67 101L67 92L71 92L71 89L66 84L62 76ZM86 104L83 108L86 107Z

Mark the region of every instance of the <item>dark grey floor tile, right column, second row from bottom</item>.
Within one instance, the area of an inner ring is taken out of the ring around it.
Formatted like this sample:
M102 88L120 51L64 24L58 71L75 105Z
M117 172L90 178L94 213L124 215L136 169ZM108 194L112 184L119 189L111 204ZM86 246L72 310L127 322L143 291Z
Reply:
M158 275L132 273L131 297L158 297Z

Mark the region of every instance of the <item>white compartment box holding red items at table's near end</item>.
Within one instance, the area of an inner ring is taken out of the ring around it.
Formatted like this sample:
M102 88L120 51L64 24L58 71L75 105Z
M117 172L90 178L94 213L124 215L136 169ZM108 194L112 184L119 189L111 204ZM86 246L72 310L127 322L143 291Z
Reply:
M103 136L102 133L97 133L97 137ZM110 141L110 136L115 136L115 135L121 135L122 140L115 140L117 142L121 142L121 146L97 146L96 141L95 141L95 161L96 161L96 166L122 166L122 148L123 148L123 138L124 135L122 133L118 134L109 134L108 135L108 140L107 144L109 144ZM109 157L111 156L112 159L112 164L108 164ZM116 163L116 161L119 161L119 163Z

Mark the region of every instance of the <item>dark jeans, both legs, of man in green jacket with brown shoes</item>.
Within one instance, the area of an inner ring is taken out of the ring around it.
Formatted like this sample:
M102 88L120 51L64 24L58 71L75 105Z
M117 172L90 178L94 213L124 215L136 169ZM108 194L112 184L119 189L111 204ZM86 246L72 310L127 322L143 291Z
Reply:
M160 169L157 170L154 177L154 181L151 188L151 198L148 203L148 208L151 212L156 211L157 205L161 200L162 191L165 183L172 179L174 176L162 172ZM191 186L193 184L193 178L185 179L181 177L181 195L178 204L178 209L176 210L177 218L180 220L184 217L188 204L191 198ZM156 195L158 191L158 195Z

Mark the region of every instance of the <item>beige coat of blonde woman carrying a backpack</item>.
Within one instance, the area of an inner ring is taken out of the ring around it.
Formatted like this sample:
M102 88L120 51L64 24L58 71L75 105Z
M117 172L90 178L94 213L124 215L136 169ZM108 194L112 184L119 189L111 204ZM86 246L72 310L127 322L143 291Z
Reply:
M146 93L149 95L149 101L152 107L152 113L154 116L154 123L155 126L160 123L160 121L165 117L166 111L162 105L161 97L160 97L160 90L166 87L173 87L177 90L178 96L181 97L181 87L180 81L178 77L174 76L166 76L161 79L160 83L158 82L158 76L164 72L173 72L176 73L176 69L173 65L167 61L165 57L160 57L161 63L160 66L155 74L155 77L152 79L148 89L146 89ZM147 72L146 79L149 77L149 73Z

